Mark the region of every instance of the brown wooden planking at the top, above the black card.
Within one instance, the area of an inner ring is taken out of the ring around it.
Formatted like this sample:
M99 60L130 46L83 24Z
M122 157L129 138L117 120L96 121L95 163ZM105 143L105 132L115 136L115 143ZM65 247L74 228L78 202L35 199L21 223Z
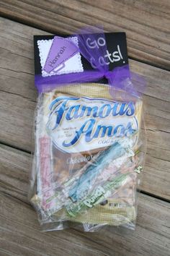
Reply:
M91 24L126 31L131 58L170 69L169 0L0 0L0 14L53 33Z

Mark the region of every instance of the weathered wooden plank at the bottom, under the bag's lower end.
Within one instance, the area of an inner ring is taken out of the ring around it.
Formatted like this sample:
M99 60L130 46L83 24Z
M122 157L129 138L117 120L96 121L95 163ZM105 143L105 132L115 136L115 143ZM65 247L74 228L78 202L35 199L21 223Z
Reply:
M0 145L0 255L168 256L169 203L140 195L135 231L107 227L43 233L27 201L30 154Z

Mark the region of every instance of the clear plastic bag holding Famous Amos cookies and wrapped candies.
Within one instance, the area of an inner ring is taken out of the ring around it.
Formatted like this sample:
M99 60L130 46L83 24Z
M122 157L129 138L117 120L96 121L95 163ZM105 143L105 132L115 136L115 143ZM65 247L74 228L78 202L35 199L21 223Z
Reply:
M41 93L30 201L42 229L134 229L145 138L139 96L99 83Z

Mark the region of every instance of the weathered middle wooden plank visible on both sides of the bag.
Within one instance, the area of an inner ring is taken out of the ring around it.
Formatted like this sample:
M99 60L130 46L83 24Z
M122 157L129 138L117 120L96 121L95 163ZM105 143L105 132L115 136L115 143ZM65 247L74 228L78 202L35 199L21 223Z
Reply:
M32 35L45 32L3 18L0 25L0 141L30 152L37 98ZM138 61L131 60L130 66L148 80L144 98L148 153L141 189L169 200L170 74Z

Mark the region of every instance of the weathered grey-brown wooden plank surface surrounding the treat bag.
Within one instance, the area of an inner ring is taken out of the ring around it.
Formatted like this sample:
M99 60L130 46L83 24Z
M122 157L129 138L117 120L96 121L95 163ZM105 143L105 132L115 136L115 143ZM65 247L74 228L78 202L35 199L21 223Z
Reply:
M170 255L170 1L0 0L0 14L0 255ZM148 81L137 227L42 233L27 200L37 98L32 36L95 24L127 33L130 67Z

